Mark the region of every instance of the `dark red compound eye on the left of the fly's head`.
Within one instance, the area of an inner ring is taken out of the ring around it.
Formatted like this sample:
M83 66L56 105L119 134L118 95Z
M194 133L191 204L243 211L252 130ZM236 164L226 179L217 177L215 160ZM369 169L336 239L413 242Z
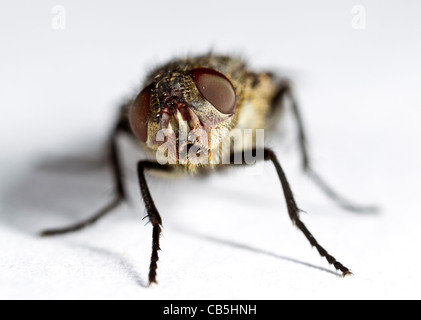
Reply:
M148 140L148 118L151 102L151 88L151 85L147 86L139 93L129 112L129 120L132 131L136 138L142 142L146 142Z

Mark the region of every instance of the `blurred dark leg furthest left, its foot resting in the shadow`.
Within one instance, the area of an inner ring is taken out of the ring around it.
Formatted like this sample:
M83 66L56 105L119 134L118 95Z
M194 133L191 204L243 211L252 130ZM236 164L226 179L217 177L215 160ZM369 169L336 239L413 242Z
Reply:
M122 181L122 172L121 172L121 162L118 155L118 148L117 148L117 136L120 132L126 131L127 126L125 125L124 121L120 120L115 127L109 144L109 157L112 166L112 173L113 179L115 184L115 196L112 201L110 201L106 206L104 206L101 210L96 212L92 217L86 219L84 221L78 222L74 225L64 227L64 228L57 228L57 229L48 229L41 232L41 236L48 237L48 236L56 236L62 235L70 232L75 232L82 230L101 218L105 217L108 213L110 213L113 209L115 209L118 205L120 205L126 199L126 192L123 186Z

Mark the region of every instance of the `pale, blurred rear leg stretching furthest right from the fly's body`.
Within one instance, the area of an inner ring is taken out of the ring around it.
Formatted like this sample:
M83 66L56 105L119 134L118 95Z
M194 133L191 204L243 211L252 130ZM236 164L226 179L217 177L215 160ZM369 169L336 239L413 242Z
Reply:
M311 166L310 155L307 147L307 135L304 129L304 122L300 112L298 103L294 97L291 89L291 85L288 81L281 81L278 85L277 92L272 100L272 108L278 108L282 102L287 99L289 100L292 108L292 112L297 123L299 148L301 153L302 168L306 172L311 180L333 201L335 201L340 207L358 213L370 213L376 212L377 208L372 206L359 206L353 204L339 193L337 193Z

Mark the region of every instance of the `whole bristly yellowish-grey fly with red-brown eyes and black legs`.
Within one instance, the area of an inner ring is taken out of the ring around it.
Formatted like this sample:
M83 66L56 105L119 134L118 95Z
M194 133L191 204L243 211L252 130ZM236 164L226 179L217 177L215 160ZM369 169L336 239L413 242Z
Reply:
M287 79L252 71L237 57L207 54L173 60L146 77L137 96L122 106L110 140L115 198L90 219L67 228L46 230L42 235L83 229L126 199L116 143L118 134L125 132L153 159L140 160L137 164L140 193L152 225L150 284L157 282L162 219L145 173L162 171L197 176L219 170L225 164L248 163L250 158L269 161L275 166L293 224L336 270L344 277L351 275L351 271L330 255L300 220L300 209L281 163L271 149L258 143L259 132L271 130L287 101L297 124L304 171L342 207L354 211L370 210L346 201L312 169L302 117ZM241 136L244 132L251 133L252 139Z

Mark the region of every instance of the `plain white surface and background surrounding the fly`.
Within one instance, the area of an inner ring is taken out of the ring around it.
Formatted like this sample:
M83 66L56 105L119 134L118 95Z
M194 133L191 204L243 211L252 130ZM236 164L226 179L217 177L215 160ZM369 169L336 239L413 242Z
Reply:
M51 28L55 1L0 4L0 298L421 298L419 1L138 3L61 1L64 31ZM366 30L351 27L356 4ZM305 223L354 277L332 274L291 225L270 165L258 176L150 179L165 226L152 288L130 152L131 207L81 233L36 236L109 199L110 175L92 159L121 97L156 63L211 47L285 70L317 169L381 206L377 216L338 209L299 172L294 136L287 147L272 140Z

